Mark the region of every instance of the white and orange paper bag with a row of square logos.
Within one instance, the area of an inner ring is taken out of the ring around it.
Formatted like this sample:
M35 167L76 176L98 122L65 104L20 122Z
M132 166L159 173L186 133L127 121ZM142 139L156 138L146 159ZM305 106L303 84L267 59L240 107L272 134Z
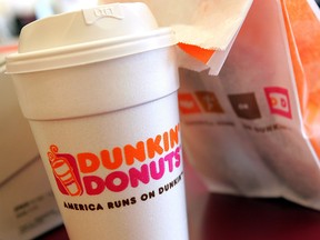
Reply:
M218 77L181 61L183 146L210 190L320 209L313 3L254 0Z

